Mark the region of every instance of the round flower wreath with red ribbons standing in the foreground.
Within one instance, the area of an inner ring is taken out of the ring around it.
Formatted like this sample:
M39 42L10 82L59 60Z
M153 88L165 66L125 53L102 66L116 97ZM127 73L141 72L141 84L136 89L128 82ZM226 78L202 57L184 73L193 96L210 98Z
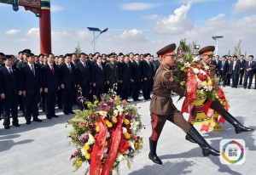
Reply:
M76 170L88 163L85 174L107 175L119 173L120 161L131 161L143 148L143 138L138 135L143 124L137 106L120 100L112 91L94 103L86 101L88 110L79 110L68 121L73 130L69 133L76 147L71 160Z

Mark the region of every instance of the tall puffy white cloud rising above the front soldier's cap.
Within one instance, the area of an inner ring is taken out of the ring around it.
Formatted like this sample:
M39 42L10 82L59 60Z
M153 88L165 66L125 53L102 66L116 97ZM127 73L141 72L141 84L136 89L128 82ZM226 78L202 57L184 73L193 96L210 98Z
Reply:
M153 26L153 31L159 34L181 34L184 31L193 28L194 24L189 20L188 12L191 8L191 3L182 5L180 8L174 10L174 14L168 17L156 17L154 19L156 24Z

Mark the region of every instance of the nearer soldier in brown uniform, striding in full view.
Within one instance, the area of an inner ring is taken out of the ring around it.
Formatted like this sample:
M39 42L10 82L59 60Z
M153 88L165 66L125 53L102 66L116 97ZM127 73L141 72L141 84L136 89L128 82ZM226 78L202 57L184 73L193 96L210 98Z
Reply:
M219 151L212 149L207 144L207 141L201 137L200 133L196 131L195 127L185 121L181 112L172 104L172 91L181 96L186 94L186 91L181 88L179 83L174 81L172 71L169 70L176 61L175 48L176 45L172 43L157 52L162 61L154 76L154 95L150 103L152 135L149 138L150 152L148 158L160 165L163 162L156 155L156 146L166 120L172 121L177 127L182 128L190 138L193 138L201 146L203 155L219 155Z

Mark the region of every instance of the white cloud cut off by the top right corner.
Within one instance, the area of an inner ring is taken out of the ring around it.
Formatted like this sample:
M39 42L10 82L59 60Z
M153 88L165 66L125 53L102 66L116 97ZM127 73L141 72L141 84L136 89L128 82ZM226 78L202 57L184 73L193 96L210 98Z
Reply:
M234 13L244 13L244 12L255 12L256 1L253 0L238 0L234 4Z

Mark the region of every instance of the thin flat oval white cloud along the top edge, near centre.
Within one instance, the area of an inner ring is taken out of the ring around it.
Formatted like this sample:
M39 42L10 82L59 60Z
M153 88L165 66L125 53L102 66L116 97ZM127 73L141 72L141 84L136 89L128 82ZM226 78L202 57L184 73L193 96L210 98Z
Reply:
M123 3L120 8L123 10L134 11L155 8L158 5L155 3Z

